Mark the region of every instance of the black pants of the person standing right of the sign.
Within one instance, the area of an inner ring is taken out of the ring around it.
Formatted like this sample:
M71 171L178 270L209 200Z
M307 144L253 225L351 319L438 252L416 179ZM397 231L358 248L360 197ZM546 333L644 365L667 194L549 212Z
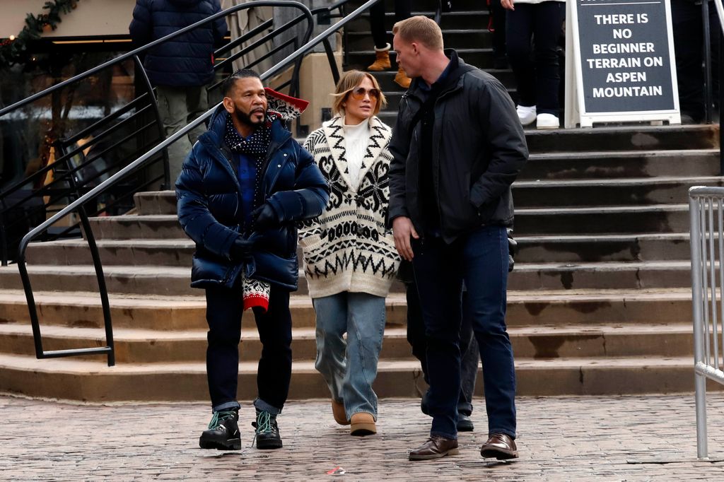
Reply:
M681 114L701 122L704 119L704 27L702 6L689 0L671 0L671 20L676 57L676 77ZM712 46L712 92L718 96L719 20L713 3L709 5Z

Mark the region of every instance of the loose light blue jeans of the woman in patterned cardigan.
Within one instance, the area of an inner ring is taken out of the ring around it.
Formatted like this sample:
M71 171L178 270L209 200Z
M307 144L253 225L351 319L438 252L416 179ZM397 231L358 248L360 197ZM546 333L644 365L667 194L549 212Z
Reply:
M324 376L332 398L344 402L350 418L365 412L377 418L372 383L384 333L384 298L341 292L314 298L317 356L314 367ZM342 335L347 333L347 341Z

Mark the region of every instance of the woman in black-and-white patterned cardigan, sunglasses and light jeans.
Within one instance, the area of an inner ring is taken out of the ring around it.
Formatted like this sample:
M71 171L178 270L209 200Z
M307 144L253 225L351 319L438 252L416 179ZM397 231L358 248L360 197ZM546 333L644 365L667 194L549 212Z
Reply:
M400 263L385 226L392 130L376 117L384 103L371 74L345 72L334 93L334 117L304 143L332 190L324 213L304 221L299 232L316 312L315 367L332 394L334 420L356 436L376 434L372 383L384 301Z

